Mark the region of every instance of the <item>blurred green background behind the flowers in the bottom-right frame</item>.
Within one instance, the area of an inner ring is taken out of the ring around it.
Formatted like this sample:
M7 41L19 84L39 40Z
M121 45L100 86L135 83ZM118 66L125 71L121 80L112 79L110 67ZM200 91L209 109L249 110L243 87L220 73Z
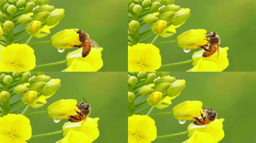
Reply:
M170 112L172 108L184 101L202 101L203 106L214 109L218 116L224 118L223 129L225 137L220 143L255 143L256 118L254 72L224 72L224 73L184 73L173 72L176 79L185 79L186 88L165 109L154 109L152 114ZM142 100L141 100L142 101ZM138 102L141 102L138 101ZM144 100L143 100L144 101ZM145 112L146 114L146 112ZM156 121L157 134L179 133L187 130L189 123L179 124L173 115L152 117ZM188 139L187 135L159 139L153 143L181 143Z

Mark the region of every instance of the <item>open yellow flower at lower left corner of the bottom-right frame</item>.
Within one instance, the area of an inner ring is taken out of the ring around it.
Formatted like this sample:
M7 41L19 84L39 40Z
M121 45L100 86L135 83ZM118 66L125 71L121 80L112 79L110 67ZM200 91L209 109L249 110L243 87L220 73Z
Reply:
M155 121L147 115L128 117L128 143L151 143L156 139Z

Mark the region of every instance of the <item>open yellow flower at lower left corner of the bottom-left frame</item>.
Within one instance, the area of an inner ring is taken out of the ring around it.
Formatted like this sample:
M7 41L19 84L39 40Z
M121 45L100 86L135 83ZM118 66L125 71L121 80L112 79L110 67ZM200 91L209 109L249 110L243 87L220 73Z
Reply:
M27 143L32 136L30 120L21 114L0 117L0 143Z

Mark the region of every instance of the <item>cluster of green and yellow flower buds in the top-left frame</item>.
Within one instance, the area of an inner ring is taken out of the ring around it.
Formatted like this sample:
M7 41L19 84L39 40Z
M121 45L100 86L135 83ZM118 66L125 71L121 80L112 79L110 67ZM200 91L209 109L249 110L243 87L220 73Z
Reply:
M5 31L18 23L27 25L28 33L36 33L42 25L53 26L64 17L64 9L49 6L50 0L0 0L0 19Z

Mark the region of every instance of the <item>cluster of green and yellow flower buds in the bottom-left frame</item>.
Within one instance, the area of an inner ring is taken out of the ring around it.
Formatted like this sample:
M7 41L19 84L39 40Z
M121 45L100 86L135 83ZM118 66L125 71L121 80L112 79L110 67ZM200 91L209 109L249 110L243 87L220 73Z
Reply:
M1 72L0 100L6 102L14 95L22 95L24 104L39 108L60 88L60 82L41 72Z

